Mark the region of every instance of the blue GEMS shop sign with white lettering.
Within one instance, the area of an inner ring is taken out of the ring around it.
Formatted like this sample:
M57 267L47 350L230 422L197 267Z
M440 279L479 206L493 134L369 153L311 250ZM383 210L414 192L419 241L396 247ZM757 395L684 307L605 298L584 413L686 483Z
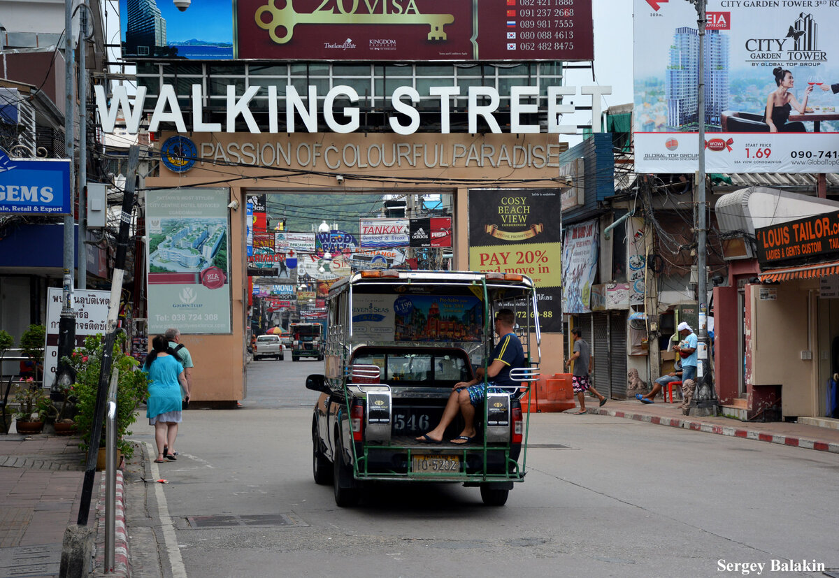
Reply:
M0 214L69 215L69 159L9 159L0 150Z

